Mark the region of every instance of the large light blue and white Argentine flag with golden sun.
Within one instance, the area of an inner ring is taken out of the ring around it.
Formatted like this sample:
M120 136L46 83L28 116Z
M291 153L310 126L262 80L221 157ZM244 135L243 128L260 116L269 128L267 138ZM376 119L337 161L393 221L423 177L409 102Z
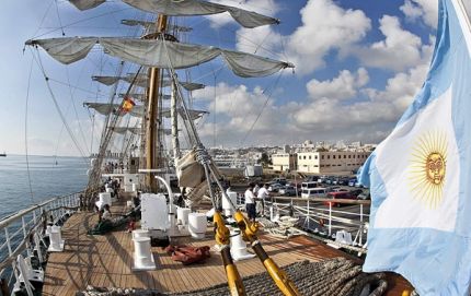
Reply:
M364 271L393 271L421 296L470 295L471 0L440 0L427 79L360 181L371 216Z

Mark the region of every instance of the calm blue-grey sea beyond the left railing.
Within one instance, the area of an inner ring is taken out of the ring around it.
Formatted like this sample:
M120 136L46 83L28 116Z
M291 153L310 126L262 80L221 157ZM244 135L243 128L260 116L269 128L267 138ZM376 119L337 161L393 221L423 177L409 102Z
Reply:
M24 155L0 157L0 220L31 204L82 190L89 163L80 157L30 156L30 191Z

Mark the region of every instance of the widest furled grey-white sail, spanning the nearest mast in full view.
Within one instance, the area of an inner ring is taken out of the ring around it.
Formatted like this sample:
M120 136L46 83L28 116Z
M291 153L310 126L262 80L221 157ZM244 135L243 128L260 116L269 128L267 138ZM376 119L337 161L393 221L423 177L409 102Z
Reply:
M83 59L95 43L101 44L104 51L111 56L146 67L184 69L207 62L222 55L228 67L237 75L244 78L266 76L280 69L294 68L292 63L251 54L163 40L72 37L28 40L26 45L37 44L56 60L71 63ZM60 49L56 49L56 46Z

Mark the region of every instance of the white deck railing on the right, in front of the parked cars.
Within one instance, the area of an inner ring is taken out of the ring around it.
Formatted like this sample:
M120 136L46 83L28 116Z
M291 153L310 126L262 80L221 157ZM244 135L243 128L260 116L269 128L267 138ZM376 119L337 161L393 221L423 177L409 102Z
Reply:
M300 228L325 240L335 240L337 230L346 230L352 235L354 249L366 252L370 203L369 200L272 197L265 201L264 214L299 217ZM241 197L238 205L243 208Z

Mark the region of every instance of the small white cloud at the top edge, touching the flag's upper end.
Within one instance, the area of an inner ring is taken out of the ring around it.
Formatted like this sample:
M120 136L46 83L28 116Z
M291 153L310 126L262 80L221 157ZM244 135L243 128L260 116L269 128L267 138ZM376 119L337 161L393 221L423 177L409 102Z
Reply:
M405 0L400 9L409 21L423 19L428 26L437 26L438 0Z

